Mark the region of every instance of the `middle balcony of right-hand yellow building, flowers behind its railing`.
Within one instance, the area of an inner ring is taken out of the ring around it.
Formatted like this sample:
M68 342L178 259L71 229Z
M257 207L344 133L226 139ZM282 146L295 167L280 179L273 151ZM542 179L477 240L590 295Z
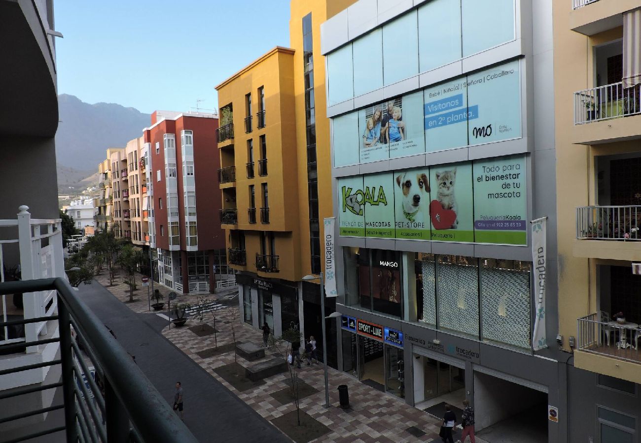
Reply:
M641 206L576 208L574 256L641 260Z

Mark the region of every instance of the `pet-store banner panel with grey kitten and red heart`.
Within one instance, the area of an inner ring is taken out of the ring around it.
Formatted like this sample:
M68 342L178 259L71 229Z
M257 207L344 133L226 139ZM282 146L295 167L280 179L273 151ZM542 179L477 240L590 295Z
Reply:
M472 164L429 168L431 239L474 241Z

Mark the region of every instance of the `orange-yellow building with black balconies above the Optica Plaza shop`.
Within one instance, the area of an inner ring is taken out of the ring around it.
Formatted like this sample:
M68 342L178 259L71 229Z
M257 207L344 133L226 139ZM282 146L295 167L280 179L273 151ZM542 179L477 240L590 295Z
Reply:
M320 221L332 214L320 24L352 3L293 0L291 49L277 46L216 86L229 264L244 320L275 335L292 326L321 335L319 287L301 280L322 270ZM329 353L331 364L335 344Z

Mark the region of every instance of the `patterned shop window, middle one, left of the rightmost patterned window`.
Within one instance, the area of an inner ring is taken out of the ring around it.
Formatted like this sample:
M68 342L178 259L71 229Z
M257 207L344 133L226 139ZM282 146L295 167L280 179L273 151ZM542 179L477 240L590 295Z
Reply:
M479 335L478 259L437 258L438 328Z

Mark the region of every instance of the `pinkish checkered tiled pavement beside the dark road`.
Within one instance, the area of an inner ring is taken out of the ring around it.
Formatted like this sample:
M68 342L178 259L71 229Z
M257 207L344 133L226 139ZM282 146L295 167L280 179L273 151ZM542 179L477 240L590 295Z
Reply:
M99 275L97 280L104 286L108 284L106 272L104 275ZM138 276L138 282L140 277ZM117 298L122 301L128 300L128 286L122 284L122 276L117 275L117 286L107 287ZM149 312L147 304L146 287L141 288L135 293L135 298L139 301L129 303L130 309L135 312ZM164 302L167 302L167 293L169 289L164 286L156 286L165 294ZM227 292L227 291L226 291ZM212 296L215 297L215 296ZM178 302L193 302L194 296L179 296ZM153 315L153 314L150 314ZM249 325L246 325L238 318L238 305L237 301L231 302L229 309L221 309L217 311L216 328L219 330L217 334L217 344L221 346L233 342L231 334L231 322L233 321L236 341L237 342L254 342L262 344L262 334L260 330L255 330ZM206 318L206 323L213 326L213 319L211 316ZM253 387L247 391L240 392L235 389L228 382L223 380L217 375L213 369L231 364L234 362L234 353L227 352L216 355L210 358L201 358L197 352L213 348L214 336L209 335L206 337L197 337L194 332L188 330L189 326L197 325L196 320L190 320L187 325L182 328L171 329L165 328L162 334L169 339L175 346L182 350L186 355L192 358L197 364L203 367L210 375L221 382L229 391L234 392L238 398L242 399L250 405L258 414L271 421L281 415L287 414L295 410L294 403L282 405L278 400L274 399L270 394L287 387L288 373L272 376L264 380L265 383ZM273 350L267 351L266 357L274 353ZM247 362L242 357L237 358L238 364L248 366L251 362ZM324 408L324 374L323 366L312 365L306 366L299 370L300 380L308 383L318 392L306 398L301 399L301 410L317 419L320 423L325 424L331 429L322 437L314 442L440 442L438 437L438 430L440 421L431 415L422 412L417 408L406 405L402 399L396 398L391 394L385 394L376 391L364 383L358 382L356 378L339 372L335 369L329 369L329 401L330 408ZM351 408L349 410L342 410L338 407L338 385L345 384L349 387L349 401ZM422 437L415 437L408 431L410 427L422 430L425 435ZM454 439L460 437L458 431ZM476 438L479 443L487 443L483 439Z

